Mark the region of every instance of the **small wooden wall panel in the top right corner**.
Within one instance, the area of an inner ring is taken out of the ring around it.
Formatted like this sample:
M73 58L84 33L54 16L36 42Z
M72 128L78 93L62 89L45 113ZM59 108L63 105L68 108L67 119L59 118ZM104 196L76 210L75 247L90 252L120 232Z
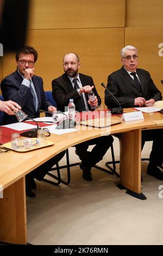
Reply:
M162 0L127 0L126 27L163 26Z

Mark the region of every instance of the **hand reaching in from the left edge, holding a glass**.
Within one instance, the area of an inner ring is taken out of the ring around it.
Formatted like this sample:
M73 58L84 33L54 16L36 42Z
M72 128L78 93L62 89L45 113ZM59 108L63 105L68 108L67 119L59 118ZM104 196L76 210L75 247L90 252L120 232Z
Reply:
M0 110L9 115L15 115L13 111L17 112L19 109L21 109L21 106L16 102L12 102L12 100L8 100L7 102L2 102L0 100Z

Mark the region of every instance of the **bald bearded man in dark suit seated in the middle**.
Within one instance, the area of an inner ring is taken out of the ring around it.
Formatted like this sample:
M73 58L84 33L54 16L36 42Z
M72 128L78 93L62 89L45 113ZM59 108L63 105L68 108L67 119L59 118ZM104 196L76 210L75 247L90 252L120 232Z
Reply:
M79 57L76 53L67 53L63 59L65 74L52 81L53 97L57 102L57 109L64 111L70 99L74 100L76 110L79 112L91 110L88 92L95 93L93 106L101 104L95 85L91 76L78 73L80 68ZM104 154L112 144L112 136L101 136L96 139L85 141L76 145L76 153L82 163L80 169L83 170L83 178L92 181L91 168L103 159ZM95 145L96 144L96 145ZM87 151L89 145L95 145L92 151Z

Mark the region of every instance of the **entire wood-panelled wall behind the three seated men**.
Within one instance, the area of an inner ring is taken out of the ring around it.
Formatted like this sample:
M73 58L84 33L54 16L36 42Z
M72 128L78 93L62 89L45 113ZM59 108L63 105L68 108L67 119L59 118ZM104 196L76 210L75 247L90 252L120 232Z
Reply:
M134 45L139 67L151 73L163 94L162 0L31 2L27 44L39 52L35 74L42 76L45 90L51 90L52 79L63 73L62 57L73 51L80 57L80 72L92 76L103 99L101 82L106 84L108 75L121 67L122 47ZM1 58L0 79L16 68L14 54L5 54L2 73Z

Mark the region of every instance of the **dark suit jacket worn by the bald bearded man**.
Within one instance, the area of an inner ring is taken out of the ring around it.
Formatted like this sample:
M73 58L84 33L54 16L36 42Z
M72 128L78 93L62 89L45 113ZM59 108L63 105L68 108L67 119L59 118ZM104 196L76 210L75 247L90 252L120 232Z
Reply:
M82 86L85 86L85 85L95 86L91 76L79 74L79 77L80 77L80 81L82 82ZM100 105L101 98L99 97L96 91L96 88L94 87L92 91L95 93L95 96L98 99L98 105ZM74 100L75 105L77 100L80 99L79 93L77 92L77 90L74 90L71 84L71 81L66 74L63 74L59 76L59 78L54 79L52 81L52 93L53 93L53 98L55 102L57 102L57 109L62 112L65 111L65 106L68 106L70 99ZM88 99L87 93L85 93L85 97L86 97L86 100L88 101L89 99ZM90 108L89 104L88 106ZM76 110L78 109L76 108Z

